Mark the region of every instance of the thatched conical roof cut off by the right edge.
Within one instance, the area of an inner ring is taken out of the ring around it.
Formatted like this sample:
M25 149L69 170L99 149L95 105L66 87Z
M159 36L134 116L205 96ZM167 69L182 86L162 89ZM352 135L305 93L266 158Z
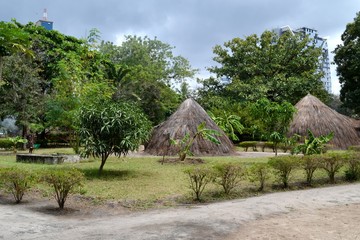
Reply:
M334 138L329 142L336 148L345 149L351 145L359 145L360 138L356 131L358 122L344 116L326 106L318 98L308 94L296 105L297 113L290 124L289 134L295 133L307 136L310 129L315 136L334 132Z

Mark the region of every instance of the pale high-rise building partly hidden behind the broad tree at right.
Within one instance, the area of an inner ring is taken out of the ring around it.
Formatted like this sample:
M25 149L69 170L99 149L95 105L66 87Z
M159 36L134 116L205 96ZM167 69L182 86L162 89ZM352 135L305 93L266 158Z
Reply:
M330 58L329 58L329 49L327 45L327 39L320 37L317 30L302 27L296 30L292 30L289 26L284 26L274 30L277 34L282 35L284 32L291 32L293 34L301 33L306 34L310 38L314 39L314 43L317 47L322 49L322 57L320 58L320 67L319 70L324 73L321 81L324 83L324 87L328 93L332 92L331 85L331 72L330 72Z

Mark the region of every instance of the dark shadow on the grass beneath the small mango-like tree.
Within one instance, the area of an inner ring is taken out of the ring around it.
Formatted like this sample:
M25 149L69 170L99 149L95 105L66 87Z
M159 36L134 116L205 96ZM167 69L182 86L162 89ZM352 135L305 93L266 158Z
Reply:
M125 180L129 178L135 178L138 176L138 172L129 170L114 170L114 169L103 169L99 174L97 168L85 168L81 169L88 180L101 179L101 180Z

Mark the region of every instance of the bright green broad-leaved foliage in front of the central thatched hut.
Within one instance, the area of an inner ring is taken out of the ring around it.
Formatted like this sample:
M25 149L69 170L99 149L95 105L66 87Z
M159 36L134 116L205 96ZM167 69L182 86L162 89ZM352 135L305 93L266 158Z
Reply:
M179 148L179 160L184 161L187 155L192 155L190 149L198 137L202 137L215 144L220 144L216 136L220 136L220 133L216 130L206 128L206 122L202 122L197 126L194 136L190 137L190 134L186 133L182 139L170 139L170 143Z

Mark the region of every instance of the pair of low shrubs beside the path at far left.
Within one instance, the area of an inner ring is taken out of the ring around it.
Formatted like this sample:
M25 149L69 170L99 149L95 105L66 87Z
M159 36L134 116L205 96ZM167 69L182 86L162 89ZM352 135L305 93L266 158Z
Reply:
M41 182L52 187L60 209L64 208L69 193L81 187L84 180L84 174L74 168L56 168L42 172L18 167L0 169L0 187L11 193L16 203L22 201L27 190Z

